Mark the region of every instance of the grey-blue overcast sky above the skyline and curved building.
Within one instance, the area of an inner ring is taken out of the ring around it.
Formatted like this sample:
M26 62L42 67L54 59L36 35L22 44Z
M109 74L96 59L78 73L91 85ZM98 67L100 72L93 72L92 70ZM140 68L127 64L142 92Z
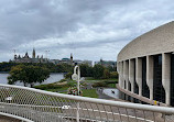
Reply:
M174 18L173 0L0 0L0 62L17 54L117 60L137 36Z

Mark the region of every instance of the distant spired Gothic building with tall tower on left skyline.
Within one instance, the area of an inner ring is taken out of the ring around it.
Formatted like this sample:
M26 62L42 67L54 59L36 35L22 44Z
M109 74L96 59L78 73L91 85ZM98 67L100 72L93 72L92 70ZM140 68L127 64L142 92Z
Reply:
M43 58L43 55L41 57L39 55L36 56L35 48L33 48L32 57L29 56L28 52L25 53L24 56L14 54L14 59L10 60L10 62L13 62L13 63L47 63L48 59Z

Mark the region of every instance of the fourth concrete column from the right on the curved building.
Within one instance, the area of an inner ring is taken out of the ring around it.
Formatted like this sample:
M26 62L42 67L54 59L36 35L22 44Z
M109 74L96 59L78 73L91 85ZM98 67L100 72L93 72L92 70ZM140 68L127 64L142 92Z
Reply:
M131 92L134 91L134 60L129 59L129 81L131 82Z

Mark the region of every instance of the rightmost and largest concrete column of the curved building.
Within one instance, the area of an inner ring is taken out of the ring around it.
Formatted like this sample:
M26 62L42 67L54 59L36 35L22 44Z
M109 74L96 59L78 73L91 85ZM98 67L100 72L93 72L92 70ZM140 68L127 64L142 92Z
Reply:
M170 106L171 91L171 54L162 54L162 85L165 89L165 103Z

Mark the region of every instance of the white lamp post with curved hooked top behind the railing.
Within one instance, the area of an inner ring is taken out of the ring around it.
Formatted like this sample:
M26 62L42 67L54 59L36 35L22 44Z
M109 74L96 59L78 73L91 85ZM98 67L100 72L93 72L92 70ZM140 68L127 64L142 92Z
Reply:
M80 80L80 70L79 66L74 67L74 74L72 75L72 79L77 81L77 93L79 96L79 80ZM77 122L79 122L79 102L77 102Z

